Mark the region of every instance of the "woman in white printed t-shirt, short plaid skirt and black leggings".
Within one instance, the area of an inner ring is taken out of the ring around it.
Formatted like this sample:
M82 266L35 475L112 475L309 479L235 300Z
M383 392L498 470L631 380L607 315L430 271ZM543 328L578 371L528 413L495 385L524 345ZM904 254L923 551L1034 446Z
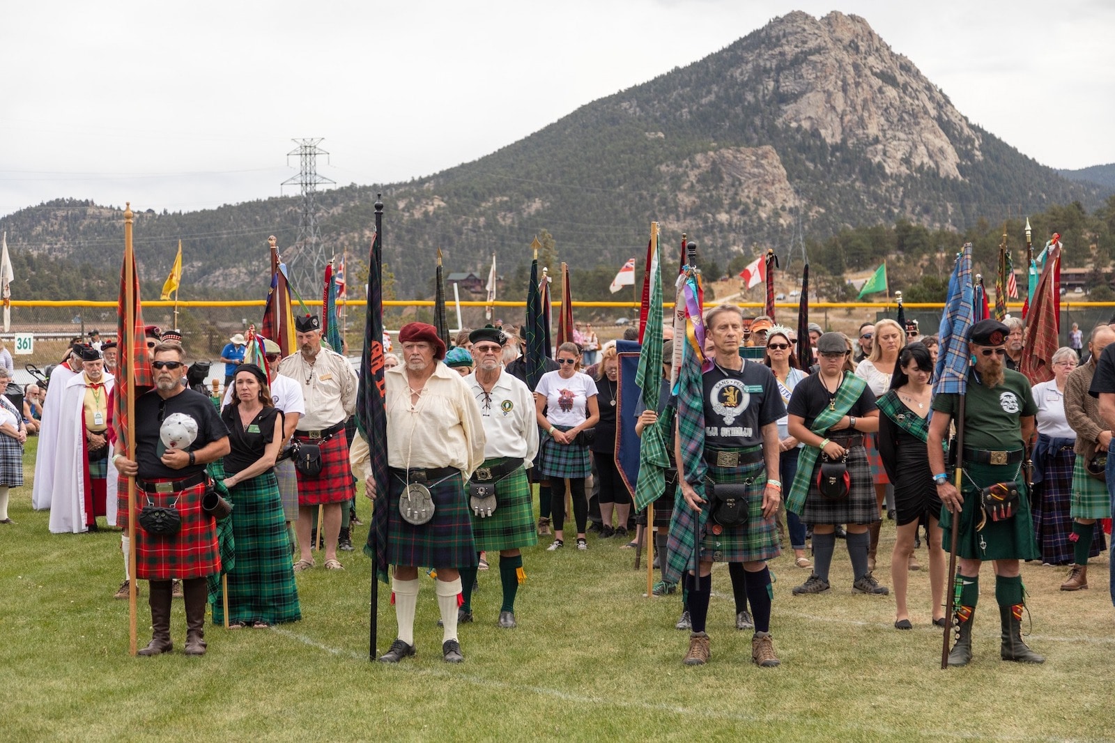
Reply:
M565 522L565 481L573 495L573 518L576 521L576 549L586 550L584 538L589 520L589 502L584 498L584 480L592 472L589 447L579 444L576 435L597 425L597 383L576 370L581 353L576 344L564 342L558 347L560 365L556 372L546 372L534 390L534 411L542 426L541 473L550 479L551 510L554 541L549 551L565 544L562 527ZM543 411L545 414L543 415Z

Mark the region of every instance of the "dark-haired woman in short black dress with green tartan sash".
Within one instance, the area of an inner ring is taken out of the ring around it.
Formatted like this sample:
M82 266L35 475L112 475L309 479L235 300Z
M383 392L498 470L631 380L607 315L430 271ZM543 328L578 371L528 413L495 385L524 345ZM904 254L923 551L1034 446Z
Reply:
M929 524L929 586L933 624L944 626L944 552L941 549L941 499L929 469L929 418L933 363L923 344L910 344L899 354L891 388L879 398L879 454L894 483L898 538L891 554L891 581L896 604L894 628L912 629L906 607L909 560L918 524ZM902 476L899 477L899 473Z

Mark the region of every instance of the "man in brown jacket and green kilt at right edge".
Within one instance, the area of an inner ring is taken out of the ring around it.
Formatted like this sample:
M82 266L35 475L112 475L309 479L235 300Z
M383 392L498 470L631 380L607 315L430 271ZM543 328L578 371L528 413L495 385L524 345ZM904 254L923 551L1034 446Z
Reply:
M1099 554L1104 547L1104 534L1095 534L1096 519L1111 515L1111 496L1104 470L1107 448L1112 443L1112 432L1099 415L1099 401L1088 394L1096 375L1096 365L1104 349L1115 340L1115 330L1101 325L1088 339L1088 360L1073 370L1065 382L1065 418L1076 432L1076 462L1073 465L1073 500L1069 515L1073 517L1073 567L1068 578L1060 585L1063 591L1078 591L1088 587L1088 557ZM1112 369L1115 370L1115 369ZM1098 539L1096 539L1098 537Z

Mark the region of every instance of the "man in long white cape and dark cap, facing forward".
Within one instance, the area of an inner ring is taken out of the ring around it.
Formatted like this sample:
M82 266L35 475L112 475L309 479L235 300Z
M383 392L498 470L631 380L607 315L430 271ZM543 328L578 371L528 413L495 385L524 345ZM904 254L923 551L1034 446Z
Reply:
M50 495L50 531L56 534L97 531L97 517L116 525L116 482L107 488L108 406L114 378L105 374L100 351L78 346L83 370L66 380L58 401L55 477Z

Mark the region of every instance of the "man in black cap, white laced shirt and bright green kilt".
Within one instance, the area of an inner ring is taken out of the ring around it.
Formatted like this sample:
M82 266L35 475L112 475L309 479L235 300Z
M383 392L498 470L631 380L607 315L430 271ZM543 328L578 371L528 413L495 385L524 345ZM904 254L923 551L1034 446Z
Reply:
M500 627L515 626L515 594L526 579L521 548L537 544L531 483L526 469L539 448L539 426L534 419L534 395L503 369L502 330L487 326L468 334L476 369L465 377L484 424L484 462L468 481L469 510L476 549L500 551L500 582L503 606ZM488 500L494 495L494 500ZM476 568L460 569L464 602L457 621L472 621L473 581Z

